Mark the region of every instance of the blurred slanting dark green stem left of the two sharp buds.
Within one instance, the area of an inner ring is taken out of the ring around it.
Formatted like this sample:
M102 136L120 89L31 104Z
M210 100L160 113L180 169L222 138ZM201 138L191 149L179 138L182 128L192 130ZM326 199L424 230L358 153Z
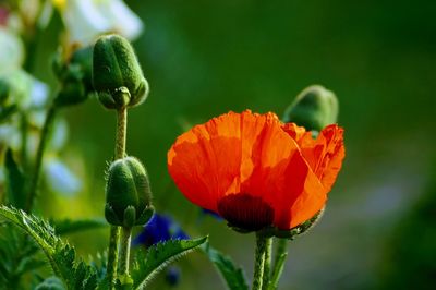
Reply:
M43 132L40 135L39 145L38 145L38 150L36 152L35 169L34 169L33 178L31 180L31 190L28 192L26 205L24 207L24 210L27 213L32 212L32 207L34 205L34 201L35 201L35 197L36 197L36 194L38 191L38 183L39 183L39 177L40 177L40 171L41 171L41 167L43 167L44 153L46 150L48 137L49 137L49 135L51 133L51 129L53 126L56 112L57 112L56 107L51 106L48 109L47 117L44 122Z

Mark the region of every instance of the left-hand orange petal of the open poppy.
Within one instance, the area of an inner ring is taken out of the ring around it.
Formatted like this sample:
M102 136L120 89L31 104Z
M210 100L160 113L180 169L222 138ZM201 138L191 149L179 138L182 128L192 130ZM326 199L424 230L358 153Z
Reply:
M217 200L240 172L240 117L214 118L179 136L168 152L168 169L194 204L217 212Z

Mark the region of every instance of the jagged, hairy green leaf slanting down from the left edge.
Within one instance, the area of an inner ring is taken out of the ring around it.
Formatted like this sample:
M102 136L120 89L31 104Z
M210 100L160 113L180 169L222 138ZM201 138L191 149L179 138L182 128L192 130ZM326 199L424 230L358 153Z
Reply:
M21 209L0 205L0 216L29 234L46 254L56 274L68 289L96 289L97 275L93 267L76 257L75 251L55 234L45 220Z

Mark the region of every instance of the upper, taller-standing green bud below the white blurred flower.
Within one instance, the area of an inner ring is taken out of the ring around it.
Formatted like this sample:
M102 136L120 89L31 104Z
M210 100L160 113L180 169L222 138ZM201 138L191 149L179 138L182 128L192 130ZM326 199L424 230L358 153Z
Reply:
M98 38L94 46L93 85L108 109L134 107L146 99L148 83L126 39L119 35Z

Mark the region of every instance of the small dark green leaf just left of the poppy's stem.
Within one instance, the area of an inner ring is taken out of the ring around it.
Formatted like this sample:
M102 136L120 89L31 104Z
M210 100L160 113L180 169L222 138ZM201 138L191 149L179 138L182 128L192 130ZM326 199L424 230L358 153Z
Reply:
M217 267L230 290L249 290L249 285L241 267L237 267L229 256L207 245L204 252Z

